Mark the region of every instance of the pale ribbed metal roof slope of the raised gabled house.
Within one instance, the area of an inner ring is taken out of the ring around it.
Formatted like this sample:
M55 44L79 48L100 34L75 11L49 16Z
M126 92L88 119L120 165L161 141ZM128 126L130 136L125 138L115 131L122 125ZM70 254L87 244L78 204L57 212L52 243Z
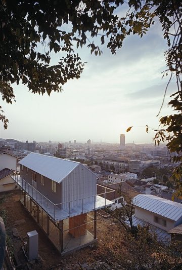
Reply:
M55 157L29 153L20 160L21 165L60 183L80 163Z

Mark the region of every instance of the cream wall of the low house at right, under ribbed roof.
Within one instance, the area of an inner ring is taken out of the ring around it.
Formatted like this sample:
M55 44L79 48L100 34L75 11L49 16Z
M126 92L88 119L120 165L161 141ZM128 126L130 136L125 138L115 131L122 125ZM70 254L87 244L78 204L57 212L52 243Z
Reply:
M162 219L165 219L166 220L166 226L162 226L162 225L154 222L154 215L158 216L158 217L160 217ZM152 224L152 225L154 225L154 226L156 226L158 228L166 230L166 232L168 232L170 229L174 228L174 221L173 220L168 219L168 218L163 217L163 216L160 216L160 215L157 215L155 213L152 213L152 212L150 212L148 210L145 210L143 208L140 208L138 206L134 207L134 216L138 217L138 218L140 218L140 219L142 219L144 221L147 221L150 224Z

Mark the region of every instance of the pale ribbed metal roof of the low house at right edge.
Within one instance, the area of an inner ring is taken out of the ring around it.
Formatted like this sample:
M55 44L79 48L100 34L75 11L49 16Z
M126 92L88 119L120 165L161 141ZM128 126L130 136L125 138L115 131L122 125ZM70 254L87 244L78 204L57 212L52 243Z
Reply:
M177 221L182 216L182 204L153 195L139 194L133 198L135 206Z

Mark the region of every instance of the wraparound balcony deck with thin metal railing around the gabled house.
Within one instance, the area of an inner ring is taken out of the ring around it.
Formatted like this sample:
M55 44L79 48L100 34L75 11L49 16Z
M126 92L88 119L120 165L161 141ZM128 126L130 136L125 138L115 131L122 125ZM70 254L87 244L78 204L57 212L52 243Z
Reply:
M105 187L105 192L99 195L54 204L48 198L43 196L36 188L21 178L19 174L14 173L12 178L20 186L20 188L25 191L28 196L33 199L36 204L40 206L54 221L88 213L90 211L105 208L114 204L112 201L106 199L106 195L111 193L114 194L115 198L115 190L108 187Z

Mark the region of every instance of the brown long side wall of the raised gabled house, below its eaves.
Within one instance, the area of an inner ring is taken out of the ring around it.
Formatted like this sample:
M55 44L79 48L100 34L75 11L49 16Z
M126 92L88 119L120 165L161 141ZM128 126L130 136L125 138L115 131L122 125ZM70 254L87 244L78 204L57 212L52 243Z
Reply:
M46 198L48 198L51 202L54 204L61 203L61 194L62 194L62 184L57 183L57 192L54 192L51 190L51 179L44 177L44 185L40 183L40 174L36 173L37 175L37 187L36 189L44 195ZM27 181L29 184L32 183L32 170L28 169L28 174L26 171L26 167L20 165L20 177L22 177L25 181Z

